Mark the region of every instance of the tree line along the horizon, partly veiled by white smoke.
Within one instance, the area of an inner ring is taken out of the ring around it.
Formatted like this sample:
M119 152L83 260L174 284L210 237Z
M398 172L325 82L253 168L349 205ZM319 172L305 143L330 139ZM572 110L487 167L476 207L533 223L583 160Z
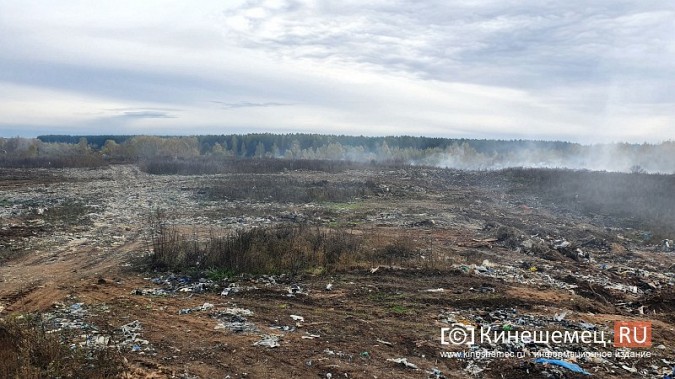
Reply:
M561 141L272 133L0 138L0 164L4 166L90 166L195 158L387 162L469 170L557 167L672 174L675 142L581 145Z

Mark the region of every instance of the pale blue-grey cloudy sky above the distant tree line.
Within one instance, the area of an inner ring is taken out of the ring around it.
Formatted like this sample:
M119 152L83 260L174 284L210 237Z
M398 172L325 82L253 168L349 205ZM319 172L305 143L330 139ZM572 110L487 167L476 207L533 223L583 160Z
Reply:
M0 0L0 136L675 139L675 2Z

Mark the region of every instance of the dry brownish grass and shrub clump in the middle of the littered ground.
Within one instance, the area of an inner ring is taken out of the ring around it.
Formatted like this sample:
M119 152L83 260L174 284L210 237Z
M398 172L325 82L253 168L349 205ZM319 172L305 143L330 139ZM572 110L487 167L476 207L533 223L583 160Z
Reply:
M345 230L302 225L254 228L198 240L167 225L161 212L150 222L151 265L162 270L196 269L218 275L297 274L318 267L336 270L345 256L360 253L363 242Z

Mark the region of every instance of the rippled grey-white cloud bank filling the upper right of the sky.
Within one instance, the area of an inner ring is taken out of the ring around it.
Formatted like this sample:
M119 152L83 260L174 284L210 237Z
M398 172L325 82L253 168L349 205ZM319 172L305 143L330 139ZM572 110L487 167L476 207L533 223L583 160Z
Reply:
M667 2L287 4L293 6L268 9L261 18L249 16L249 11L265 9L264 1L230 11L226 21L247 23L228 28L229 35L243 46L290 58L534 89L607 83L616 76L637 75L645 61L672 72L669 58L675 58L664 56L664 48L673 43L668 30L675 26L675 7ZM661 73L648 71L644 74L662 80Z

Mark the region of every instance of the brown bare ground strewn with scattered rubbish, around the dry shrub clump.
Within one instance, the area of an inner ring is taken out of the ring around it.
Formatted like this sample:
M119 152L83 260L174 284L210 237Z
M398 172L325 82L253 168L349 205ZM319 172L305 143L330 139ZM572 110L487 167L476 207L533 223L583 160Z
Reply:
M40 313L54 330L81 330L71 342L118 349L128 377L574 378L583 375L534 363L535 354L583 352L613 354L565 358L595 377L671 370L675 253L662 236L494 175L4 170L1 315ZM406 241L413 254L294 276L157 272L147 265L156 209L195 235L303 224L349 230L372 250ZM592 331L611 340L615 321L651 321L651 347L441 344L444 327ZM442 355L462 351L522 357Z

